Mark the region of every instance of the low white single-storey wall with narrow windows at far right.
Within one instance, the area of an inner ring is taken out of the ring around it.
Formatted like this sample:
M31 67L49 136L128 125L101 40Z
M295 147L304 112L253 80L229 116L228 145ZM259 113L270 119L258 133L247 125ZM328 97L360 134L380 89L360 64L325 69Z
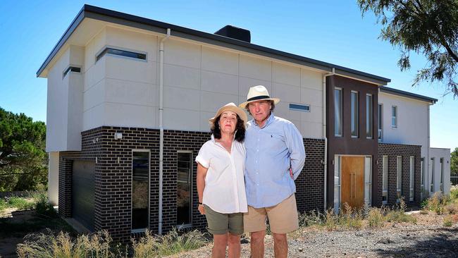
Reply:
M434 158L433 185L434 191L440 191L440 159L443 158L443 188L446 195L450 194L450 149L431 148L431 159ZM433 193L432 192L432 193Z

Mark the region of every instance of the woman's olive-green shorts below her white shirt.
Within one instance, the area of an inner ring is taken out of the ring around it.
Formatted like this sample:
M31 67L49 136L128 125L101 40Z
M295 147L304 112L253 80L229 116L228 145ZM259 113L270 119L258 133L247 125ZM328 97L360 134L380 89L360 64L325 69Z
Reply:
M223 235L231 233L233 235L242 235L243 233L243 213L223 214L213 211L204 204L206 223L209 225L206 229L213 235Z

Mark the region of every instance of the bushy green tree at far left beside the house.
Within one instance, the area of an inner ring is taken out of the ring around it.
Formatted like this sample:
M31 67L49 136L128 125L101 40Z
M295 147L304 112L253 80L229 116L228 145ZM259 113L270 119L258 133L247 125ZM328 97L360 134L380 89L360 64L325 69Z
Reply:
M0 191L47 184L46 125L0 107Z

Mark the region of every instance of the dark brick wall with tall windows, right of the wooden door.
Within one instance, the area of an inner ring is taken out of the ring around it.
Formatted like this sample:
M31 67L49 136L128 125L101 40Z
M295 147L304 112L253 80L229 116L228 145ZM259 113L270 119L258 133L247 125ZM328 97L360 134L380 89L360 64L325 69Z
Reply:
M397 156L402 156L402 186L401 195L407 206L420 205L420 176L421 176L421 146L419 145L396 145L388 143L378 144L378 181L376 185L377 195L373 197L374 206L382 205L383 188L383 156L388 156L388 205L396 204L396 173ZM414 156L414 200L409 201L410 192L410 156Z

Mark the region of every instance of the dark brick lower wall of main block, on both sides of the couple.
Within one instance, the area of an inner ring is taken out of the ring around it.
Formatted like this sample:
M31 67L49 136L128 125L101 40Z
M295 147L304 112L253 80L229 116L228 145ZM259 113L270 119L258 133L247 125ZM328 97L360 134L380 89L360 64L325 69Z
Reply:
M115 133L123 133L120 140ZM163 233L176 226L177 153L192 152L192 160L210 133L181 130L164 132L163 148ZM304 139L307 153L304 169L296 180L299 211L323 209L323 140ZM71 217L71 178L73 160L92 160L95 164L94 228L106 229L113 239L130 240L132 149L149 149L150 229L158 233L159 223L159 130L101 127L82 133L81 152L60 152L59 213ZM197 211L198 195L195 162L192 169L192 226L204 229L205 216Z

